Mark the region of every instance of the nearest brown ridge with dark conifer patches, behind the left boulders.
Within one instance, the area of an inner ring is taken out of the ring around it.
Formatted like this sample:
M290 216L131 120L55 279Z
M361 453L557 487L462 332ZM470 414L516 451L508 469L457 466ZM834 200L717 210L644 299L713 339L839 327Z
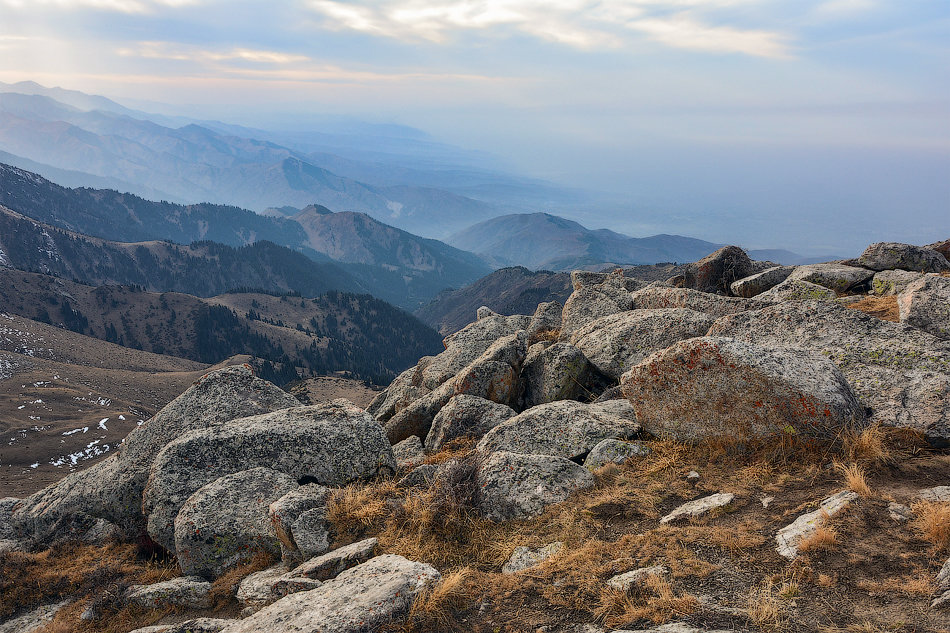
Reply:
M298 373L341 371L386 381L442 347L441 337L412 315L369 295L336 291L314 299L262 293L202 299L0 268L0 305L123 347L200 363L250 354L265 361L262 375L281 383Z

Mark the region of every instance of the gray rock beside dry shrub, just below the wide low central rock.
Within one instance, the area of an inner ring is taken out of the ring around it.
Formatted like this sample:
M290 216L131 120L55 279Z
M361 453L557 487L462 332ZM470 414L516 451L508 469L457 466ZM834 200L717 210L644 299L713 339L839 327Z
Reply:
M590 488L594 476L569 459L499 451L478 471L479 510L492 521L536 516L575 490Z

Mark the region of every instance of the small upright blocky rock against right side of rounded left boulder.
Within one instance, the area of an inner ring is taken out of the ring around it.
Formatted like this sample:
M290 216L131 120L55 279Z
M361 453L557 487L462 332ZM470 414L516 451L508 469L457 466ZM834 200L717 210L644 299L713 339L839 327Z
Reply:
M299 562L327 551L330 546L330 525L326 520L329 492L319 484L307 484L270 504L268 516L280 540L280 556L285 563Z

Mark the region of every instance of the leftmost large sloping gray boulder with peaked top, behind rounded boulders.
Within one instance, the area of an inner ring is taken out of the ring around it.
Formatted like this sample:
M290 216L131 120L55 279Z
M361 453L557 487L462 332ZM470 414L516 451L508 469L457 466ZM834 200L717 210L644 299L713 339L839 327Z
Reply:
M95 517L138 537L145 527L142 491L149 468L167 444L189 431L299 404L246 366L210 372L133 429L111 457L24 499L14 512L17 534L40 544L72 538L88 531L95 523L89 517Z

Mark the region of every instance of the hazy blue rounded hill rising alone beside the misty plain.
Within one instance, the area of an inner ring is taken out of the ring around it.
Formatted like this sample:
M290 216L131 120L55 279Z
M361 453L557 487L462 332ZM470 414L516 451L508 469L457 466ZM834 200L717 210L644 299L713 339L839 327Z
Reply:
M607 229L592 231L548 213L492 218L446 241L496 264L552 270L695 261L722 246L680 235L635 238Z

